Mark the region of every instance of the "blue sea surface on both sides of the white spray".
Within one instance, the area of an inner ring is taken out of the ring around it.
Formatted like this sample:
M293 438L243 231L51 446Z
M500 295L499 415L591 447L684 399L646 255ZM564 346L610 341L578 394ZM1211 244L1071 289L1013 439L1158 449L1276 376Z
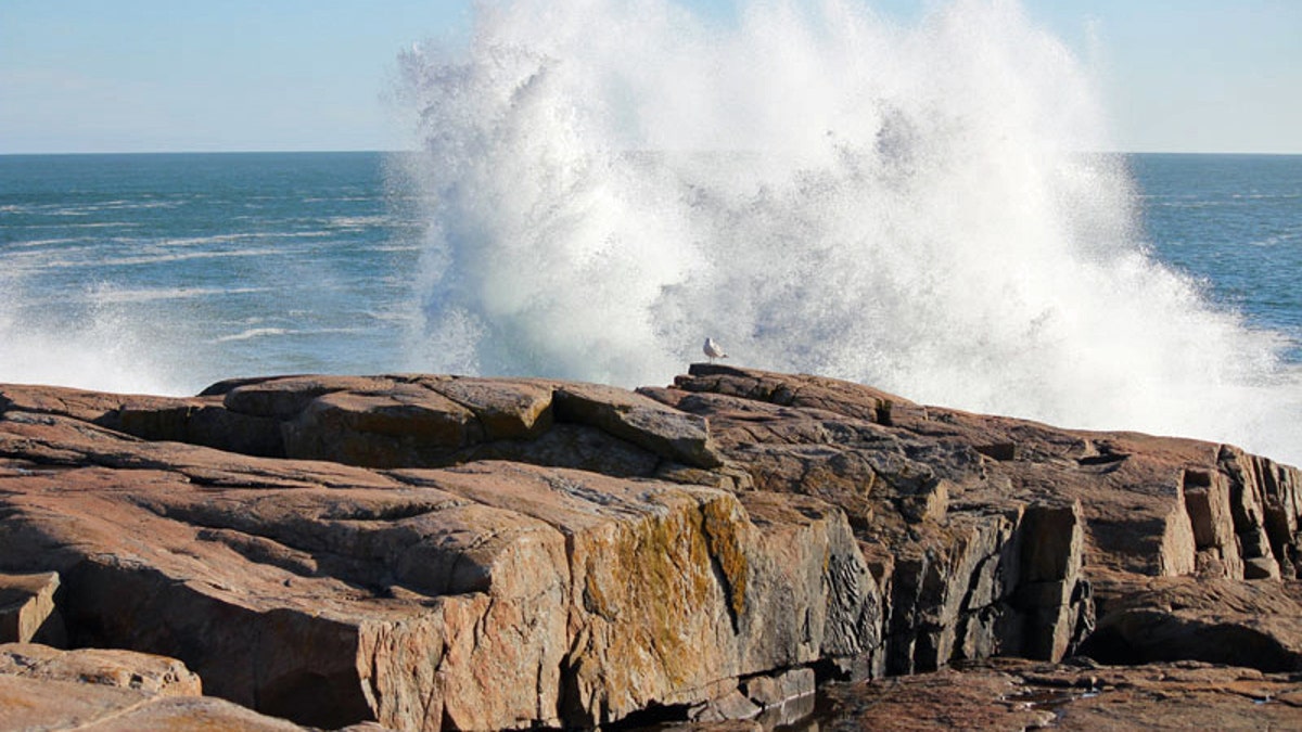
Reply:
M417 186L379 152L0 156L0 380L194 392L422 370ZM1152 254L1302 363L1302 156L1130 155Z

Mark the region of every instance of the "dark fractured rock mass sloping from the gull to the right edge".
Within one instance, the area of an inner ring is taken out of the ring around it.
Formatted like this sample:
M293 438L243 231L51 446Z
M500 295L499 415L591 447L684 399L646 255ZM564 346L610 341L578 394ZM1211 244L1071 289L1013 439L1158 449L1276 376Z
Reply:
M993 654L1062 658L1094 632L1100 581L1113 582L1116 606L1135 580L1279 578L1298 567L1298 472L1228 445L1057 430L723 366L642 392L710 419L755 486L846 511L888 598L884 668L894 673ZM1256 632L1249 613L1237 617L1234 632Z

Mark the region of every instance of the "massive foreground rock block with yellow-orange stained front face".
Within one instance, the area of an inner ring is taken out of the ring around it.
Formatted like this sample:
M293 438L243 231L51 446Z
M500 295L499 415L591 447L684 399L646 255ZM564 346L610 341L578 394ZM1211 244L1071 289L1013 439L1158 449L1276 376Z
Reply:
M0 556L61 573L77 645L173 655L299 724L604 724L880 634L844 514L803 496L250 457L21 410L0 452Z

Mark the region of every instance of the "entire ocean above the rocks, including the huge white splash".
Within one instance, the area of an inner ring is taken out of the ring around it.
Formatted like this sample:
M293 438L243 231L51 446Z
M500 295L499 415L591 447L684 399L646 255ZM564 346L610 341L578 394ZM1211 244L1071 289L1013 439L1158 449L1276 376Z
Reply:
M663 384L711 335L1302 462L1302 158L1082 152L1091 76L1013 3L575 8L404 53L418 152L0 156L0 380Z

